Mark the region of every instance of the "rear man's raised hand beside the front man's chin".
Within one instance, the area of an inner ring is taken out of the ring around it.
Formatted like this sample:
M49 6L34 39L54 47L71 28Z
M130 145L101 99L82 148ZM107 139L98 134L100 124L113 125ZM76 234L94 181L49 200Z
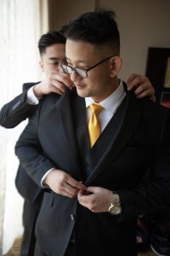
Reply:
M71 81L70 76L59 71L54 71L41 83L36 84L33 90L35 96L42 97L51 92L62 95L65 92L66 87L69 89L74 87L74 83Z

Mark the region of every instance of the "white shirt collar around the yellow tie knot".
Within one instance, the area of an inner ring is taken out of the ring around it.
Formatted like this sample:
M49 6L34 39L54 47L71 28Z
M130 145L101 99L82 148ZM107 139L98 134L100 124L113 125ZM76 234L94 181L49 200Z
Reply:
M113 113L115 111L116 105L119 104L119 102L122 99L122 95L124 94L125 94L125 90L121 80L117 89L110 96L108 96L104 101L99 102L99 105L105 108L105 110ZM90 104L96 103L94 102L92 97L86 97L85 102L86 102L86 108L88 108Z

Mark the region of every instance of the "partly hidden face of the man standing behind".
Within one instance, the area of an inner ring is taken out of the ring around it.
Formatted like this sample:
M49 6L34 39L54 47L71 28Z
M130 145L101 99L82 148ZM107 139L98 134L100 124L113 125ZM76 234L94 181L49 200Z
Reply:
M40 67L42 72L48 76L53 71L61 71L60 63L65 57L65 44L53 44L46 48L44 54L42 54L42 60L40 61Z

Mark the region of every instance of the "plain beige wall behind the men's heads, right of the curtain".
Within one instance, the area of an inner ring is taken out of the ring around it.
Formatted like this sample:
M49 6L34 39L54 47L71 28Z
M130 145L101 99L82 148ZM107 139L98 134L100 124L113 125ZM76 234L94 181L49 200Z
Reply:
M148 47L170 48L169 0L48 0L50 27L59 28L83 12L105 7L116 11L121 33L123 79L145 73ZM159 60L158 60L159 61Z

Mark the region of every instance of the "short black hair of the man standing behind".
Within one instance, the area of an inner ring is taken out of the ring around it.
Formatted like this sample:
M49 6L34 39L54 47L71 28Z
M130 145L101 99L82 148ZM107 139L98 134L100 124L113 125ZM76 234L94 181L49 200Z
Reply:
M41 36L38 41L38 49L40 55L46 52L46 48L53 44L65 44L66 38L62 32L59 31L49 31Z

